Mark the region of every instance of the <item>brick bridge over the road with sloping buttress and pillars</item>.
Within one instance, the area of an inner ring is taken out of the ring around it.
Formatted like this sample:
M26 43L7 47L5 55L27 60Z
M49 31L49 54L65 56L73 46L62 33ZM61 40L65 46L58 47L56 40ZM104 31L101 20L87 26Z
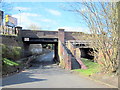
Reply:
M82 32L24 30L17 27L18 36L23 41L25 55L29 52L30 44L54 44L56 62L66 69L85 69L80 57L85 57L91 49L91 41L83 40Z

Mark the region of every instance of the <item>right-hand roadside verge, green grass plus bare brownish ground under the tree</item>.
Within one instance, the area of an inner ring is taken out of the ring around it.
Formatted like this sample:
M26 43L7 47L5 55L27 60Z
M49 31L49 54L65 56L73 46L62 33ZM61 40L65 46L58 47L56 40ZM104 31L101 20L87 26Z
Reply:
M77 72L77 74L118 87L118 76L115 73L103 73L104 67L100 66L100 64L85 58L82 58L81 60L86 65L87 69L73 70Z

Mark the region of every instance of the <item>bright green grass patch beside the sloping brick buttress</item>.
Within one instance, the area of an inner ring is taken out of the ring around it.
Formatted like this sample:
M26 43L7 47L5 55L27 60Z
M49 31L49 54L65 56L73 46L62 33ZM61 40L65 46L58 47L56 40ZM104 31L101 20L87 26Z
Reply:
M80 72L81 74L87 75L87 76L100 72L101 69L98 63L92 62L91 60L85 59L85 58L81 58L81 60L85 64L87 69L75 69L73 71Z

